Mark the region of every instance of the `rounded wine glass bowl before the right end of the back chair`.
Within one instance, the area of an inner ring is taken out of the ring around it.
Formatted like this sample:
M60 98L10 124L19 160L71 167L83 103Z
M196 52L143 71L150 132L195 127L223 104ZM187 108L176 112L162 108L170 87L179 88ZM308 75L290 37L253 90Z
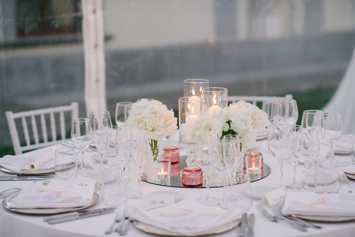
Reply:
M278 99L274 108L275 124L296 125L298 119L297 102L294 99Z

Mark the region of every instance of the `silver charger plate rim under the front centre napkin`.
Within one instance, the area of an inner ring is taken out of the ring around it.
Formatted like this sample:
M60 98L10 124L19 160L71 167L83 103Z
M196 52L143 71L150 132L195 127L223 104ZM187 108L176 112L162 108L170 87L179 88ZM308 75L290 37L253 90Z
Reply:
M236 227L239 224L239 221L240 220L237 220L235 222L231 222L231 223L225 224L223 226L219 226L217 228L213 228L212 230L204 231L204 232L198 233L197 235L191 235L191 236L214 235L214 234L226 232L226 231L229 231L229 230L233 229L234 227ZM158 227L151 226L151 225L148 225L146 223L142 223L142 222L139 222L139 221L136 221L136 220L133 221L133 224L138 229L140 229L140 230L142 230L144 232L147 232L147 233L155 234L155 235L184 236L184 235L181 235L179 233L174 233L174 232L170 232L170 231L167 231L167 230L163 230L163 229L160 229Z

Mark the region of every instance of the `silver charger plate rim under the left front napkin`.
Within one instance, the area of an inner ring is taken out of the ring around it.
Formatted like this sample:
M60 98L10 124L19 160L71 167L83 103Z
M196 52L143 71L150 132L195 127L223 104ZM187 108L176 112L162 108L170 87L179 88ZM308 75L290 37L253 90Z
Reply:
M84 208L88 208L89 206L92 206L94 204L96 204L99 201L99 194L94 192L94 196L93 199L91 201L91 203L87 206L82 206L79 208L9 208L10 203L12 203L12 199L16 198L17 195L20 193L21 191L19 190L18 192L11 194L9 196L6 196L4 198L4 200L2 200L2 205L13 212L18 212L18 213L24 213L24 214L37 214L37 215L49 215L49 214L59 214L59 213L64 213L64 212L70 212L70 211L77 211L77 210L81 210Z

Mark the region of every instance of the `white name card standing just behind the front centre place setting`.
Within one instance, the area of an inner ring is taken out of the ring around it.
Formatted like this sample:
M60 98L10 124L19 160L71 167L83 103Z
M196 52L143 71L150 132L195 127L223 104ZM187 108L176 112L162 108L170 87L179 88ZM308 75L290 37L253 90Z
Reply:
M143 194L142 209L144 211L175 203L174 194Z

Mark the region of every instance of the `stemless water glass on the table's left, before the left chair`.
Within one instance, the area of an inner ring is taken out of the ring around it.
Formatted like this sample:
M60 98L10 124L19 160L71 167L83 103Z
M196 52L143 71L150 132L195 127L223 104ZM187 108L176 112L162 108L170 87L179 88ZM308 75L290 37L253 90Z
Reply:
M59 179L72 179L78 173L75 150L72 147L55 149L54 172Z

